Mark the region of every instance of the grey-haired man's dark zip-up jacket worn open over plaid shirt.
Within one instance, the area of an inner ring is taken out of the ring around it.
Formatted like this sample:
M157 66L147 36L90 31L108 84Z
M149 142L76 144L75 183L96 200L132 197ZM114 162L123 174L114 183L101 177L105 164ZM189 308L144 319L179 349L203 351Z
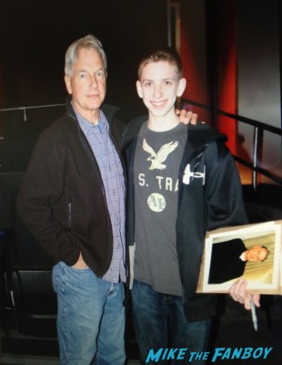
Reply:
M118 151L116 107L104 105L102 110ZM54 263L73 266L81 252L96 276L106 274L113 236L104 185L69 99L65 114L36 142L17 206L26 227Z

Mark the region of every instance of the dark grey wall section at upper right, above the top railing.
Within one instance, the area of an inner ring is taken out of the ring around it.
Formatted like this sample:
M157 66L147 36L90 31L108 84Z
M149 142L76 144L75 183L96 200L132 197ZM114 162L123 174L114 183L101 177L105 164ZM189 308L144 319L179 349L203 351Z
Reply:
M240 0L237 5L237 72L240 114L281 127L278 0Z

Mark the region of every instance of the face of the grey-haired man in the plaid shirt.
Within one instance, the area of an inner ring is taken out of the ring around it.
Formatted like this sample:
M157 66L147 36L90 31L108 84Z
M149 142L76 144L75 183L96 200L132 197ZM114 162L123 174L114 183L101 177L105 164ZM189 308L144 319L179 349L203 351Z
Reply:
M76 110L87 120L93 121L98 118L106 97L106 70L102 57L96 49L82 48L72 71L72 76L65 75L66 89L72 94Z

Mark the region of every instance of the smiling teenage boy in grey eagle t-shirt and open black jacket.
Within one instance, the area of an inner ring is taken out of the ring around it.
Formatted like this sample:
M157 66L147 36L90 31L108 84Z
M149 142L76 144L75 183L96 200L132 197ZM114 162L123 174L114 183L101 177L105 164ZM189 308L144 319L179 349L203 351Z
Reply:
M147 362L150 349L206 349L216 310L213 295L196 294L206 231L246 224L247 215L226 136L176 117L186 89L178 55L161 49L144 58L136 88L148 120L126 130L127 218L136 339Z

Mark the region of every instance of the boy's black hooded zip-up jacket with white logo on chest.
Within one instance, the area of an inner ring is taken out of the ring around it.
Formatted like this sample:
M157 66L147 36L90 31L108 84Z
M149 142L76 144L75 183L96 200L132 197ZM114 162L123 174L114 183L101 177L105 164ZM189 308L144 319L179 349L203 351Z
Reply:
M127 239L135 243L134 156L144 118L134 120L124 137L128 171ZM188 125L188 138L179 169L176 248L189 321L211 318L216 297L196 294L206 231L247 224L237 168L227 137L206 124ZM136 242L136 245L138 243Z

